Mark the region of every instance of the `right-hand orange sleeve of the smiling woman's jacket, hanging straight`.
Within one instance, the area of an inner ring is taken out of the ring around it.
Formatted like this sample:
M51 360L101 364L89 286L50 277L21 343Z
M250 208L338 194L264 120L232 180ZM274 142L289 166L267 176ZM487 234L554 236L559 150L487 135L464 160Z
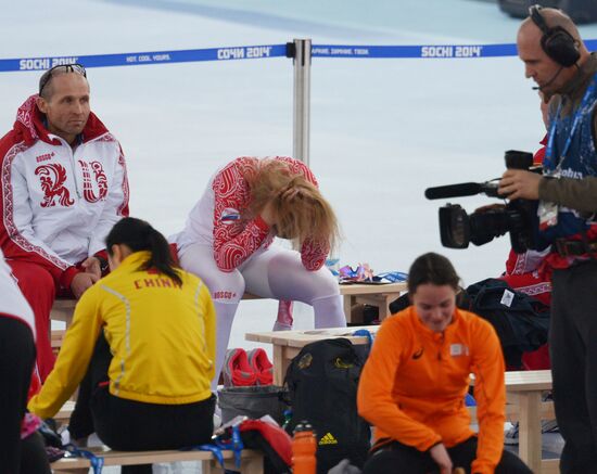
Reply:
M472 371L479 419L479 446L471 472L493 474L504 450L506 385L504 356L490 323L475 318Z

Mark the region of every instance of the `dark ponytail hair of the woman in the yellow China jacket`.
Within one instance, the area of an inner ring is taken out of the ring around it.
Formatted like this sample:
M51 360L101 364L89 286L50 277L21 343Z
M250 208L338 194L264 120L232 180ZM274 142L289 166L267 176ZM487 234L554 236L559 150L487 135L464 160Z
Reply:
M107 252L112 254L112 245L124 244L132 252L149 251L151 256L141 270L154 268L182 285L178 266L174 262L168 241L149 222L135 217L125 217L112 228L105 238Z

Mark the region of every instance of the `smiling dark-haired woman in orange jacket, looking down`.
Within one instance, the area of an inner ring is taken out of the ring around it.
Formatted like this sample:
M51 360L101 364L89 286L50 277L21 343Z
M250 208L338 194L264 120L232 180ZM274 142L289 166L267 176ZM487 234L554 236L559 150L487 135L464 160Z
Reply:
M492 325L459 310L459 277L439 254L408 273L411 306L383 321L363 370L359 414L376 426L364 474L526 474L504 451L504 356ZM465 406L475 375L479 434Z

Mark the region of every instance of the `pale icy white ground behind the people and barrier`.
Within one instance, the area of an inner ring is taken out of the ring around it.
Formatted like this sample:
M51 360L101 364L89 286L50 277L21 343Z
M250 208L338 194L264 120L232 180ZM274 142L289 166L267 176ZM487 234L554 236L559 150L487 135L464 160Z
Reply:
M472 0L22 0L2 9L0 57L277 44L513 42L519 25ZM597 38L597 25L584 26ZM292 152L292 64L287 59L89 69L92 108L128 159L131 214L165 234L213 171L238 155ZM37 91L39 73L0 73L0 131ZM342 264L403 270L423 252L453 259L465 284L503 271L508 240L443 248L442 201L423 190L484 181L504 152L534 151L538 99L516 57L314 59L310 166L340 217ZM455 198L468 210L491 202ZM240 306L231 346L269 330L274 302ZM297 326L313 323L308 308Z

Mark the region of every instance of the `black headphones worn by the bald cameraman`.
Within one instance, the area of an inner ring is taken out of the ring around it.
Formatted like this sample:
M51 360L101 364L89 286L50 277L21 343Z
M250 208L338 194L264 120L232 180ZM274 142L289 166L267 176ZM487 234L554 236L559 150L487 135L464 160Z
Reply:
M547 26L541 10L541 5L533 5L529 9L531 20L543 31L541 47L559 65L563 67L573 66L581 59L576 40L561 26Z

